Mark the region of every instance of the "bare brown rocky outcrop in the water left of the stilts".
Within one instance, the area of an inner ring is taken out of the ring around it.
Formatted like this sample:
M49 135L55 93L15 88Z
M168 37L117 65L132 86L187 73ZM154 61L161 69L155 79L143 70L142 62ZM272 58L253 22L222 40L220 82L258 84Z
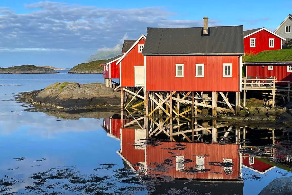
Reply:
M54 83L26 96L33 104L62 109L108 108L121 103L121 94L101 83Z

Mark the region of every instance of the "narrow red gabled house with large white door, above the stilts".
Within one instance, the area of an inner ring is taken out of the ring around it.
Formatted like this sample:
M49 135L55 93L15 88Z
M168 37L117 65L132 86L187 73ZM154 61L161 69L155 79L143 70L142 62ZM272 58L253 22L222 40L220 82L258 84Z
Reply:
M141 35L126 53L116 62L120 68L121 87L144 86L144 48L146 36ZM131 44L131 43L130 43Z

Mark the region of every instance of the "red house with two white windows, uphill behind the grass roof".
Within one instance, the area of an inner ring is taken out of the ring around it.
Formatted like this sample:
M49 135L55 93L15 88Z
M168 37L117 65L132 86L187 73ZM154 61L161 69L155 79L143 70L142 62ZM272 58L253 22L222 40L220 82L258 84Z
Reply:
M243 32L243 36L245 55L256 55L261 51L282 49L282 41L286 40L266 28L246 30Z

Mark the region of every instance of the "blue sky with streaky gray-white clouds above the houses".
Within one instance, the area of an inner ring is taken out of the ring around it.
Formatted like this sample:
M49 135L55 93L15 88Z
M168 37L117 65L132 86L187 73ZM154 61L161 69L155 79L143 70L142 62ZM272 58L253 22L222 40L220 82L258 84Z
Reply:
M71 68L97 51L117 49L147 27L244 25L274 30L292 1L1 0L0 67L35 64Z

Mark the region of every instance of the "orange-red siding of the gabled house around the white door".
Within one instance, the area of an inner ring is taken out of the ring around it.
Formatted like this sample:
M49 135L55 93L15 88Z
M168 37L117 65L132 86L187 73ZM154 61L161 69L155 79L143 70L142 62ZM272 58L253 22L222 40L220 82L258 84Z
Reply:
M144 40L140 40L138 44L144 44ZM124 57L121 61L121 86L134 87L134 66L144 66L144 56L138 53L138 44Z

